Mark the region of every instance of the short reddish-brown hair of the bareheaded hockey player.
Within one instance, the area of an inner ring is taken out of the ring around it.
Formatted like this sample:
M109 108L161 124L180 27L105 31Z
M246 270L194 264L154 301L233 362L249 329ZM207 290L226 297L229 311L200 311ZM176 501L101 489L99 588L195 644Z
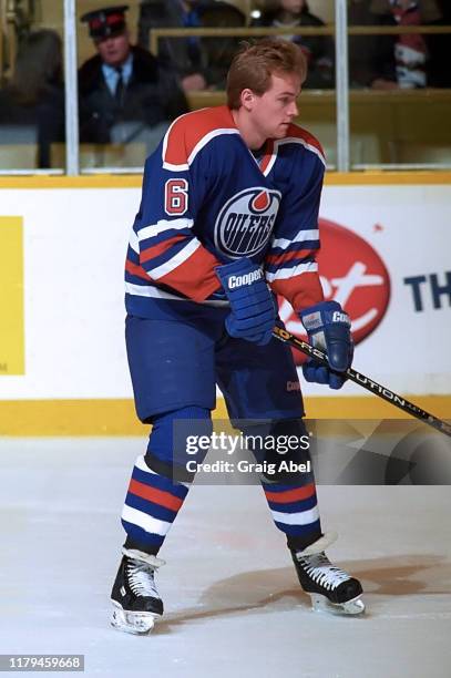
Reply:
M245 43L232 61L227 74L227 104L239 109L243 90L262 96L270 86L273 73L297 73L304 82L307 60L294 42L265 38L254 44Z

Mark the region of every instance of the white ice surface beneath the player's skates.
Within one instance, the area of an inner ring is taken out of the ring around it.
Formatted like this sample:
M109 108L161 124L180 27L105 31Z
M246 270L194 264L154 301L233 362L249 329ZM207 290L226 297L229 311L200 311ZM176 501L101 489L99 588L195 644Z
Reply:
M109 626L119 522L141 439L2 439L2 654L84 654L122 678L451 675L448 486L319 486L329 557L368 614L310 610L257 486L195 486L161 552L153 635ZM59 674L60 675L60 674ZM70 674L61 674L70 675Z

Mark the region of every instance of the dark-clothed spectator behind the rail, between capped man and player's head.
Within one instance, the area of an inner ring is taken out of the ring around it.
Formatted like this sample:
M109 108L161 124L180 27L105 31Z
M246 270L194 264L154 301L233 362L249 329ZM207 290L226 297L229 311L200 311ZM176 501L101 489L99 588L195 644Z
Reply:
M212 0L143 0L141 2L139 41L148 45L148 33L157 28L233 28L244 27L246 17L229 4ZM164 38L158 53L170 60L185 92L225 89L232 58L239 47L235 38Z

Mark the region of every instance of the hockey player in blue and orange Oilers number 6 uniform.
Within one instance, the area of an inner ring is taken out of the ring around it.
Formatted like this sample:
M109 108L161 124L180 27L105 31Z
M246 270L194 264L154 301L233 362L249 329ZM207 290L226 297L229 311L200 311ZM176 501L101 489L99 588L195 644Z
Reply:
M153 428L122 513L112 624L125 631L147 633L163 613L157 553L193 480L174 443L177 422L208 434L218 383L242 431L306 432L291 352L271 337L275 295L328 352L334 371L310 361L308 381L340 388L352 359L349 319L324 299L315 261L325 158L293 123L305 78L295 44L245 47L228 73L227 105L178 117L145 163L125 331L137 415ZM308 451L295 456L305 462ZM332 537L321 531L312 474L263 476L262 485L314 606L361 613L360 583L325 555Z

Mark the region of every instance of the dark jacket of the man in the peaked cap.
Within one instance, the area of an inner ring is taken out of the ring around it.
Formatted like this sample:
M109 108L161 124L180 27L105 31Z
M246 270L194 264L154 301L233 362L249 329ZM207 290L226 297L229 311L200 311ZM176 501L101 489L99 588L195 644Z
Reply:
M174 71L142 48L133 47L132 54L132 76L122 105L106 85L99 54L80 68L81 142L105 144L111 141L111 129L117 123L141 122L153 127L188 111Z

